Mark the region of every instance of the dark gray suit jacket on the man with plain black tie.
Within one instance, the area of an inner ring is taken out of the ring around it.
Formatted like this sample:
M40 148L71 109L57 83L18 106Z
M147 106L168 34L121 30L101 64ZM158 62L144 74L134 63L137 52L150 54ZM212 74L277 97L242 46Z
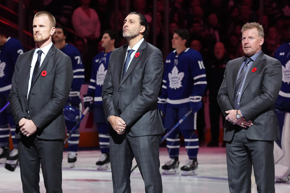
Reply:
M22 134L18 122L25 117L31 119L37 126L38 138L64 139L66 132L63 107L72 85L71 59L52 45L31 85L30 101L28 101L29 65L34 50L19 55L12 77L9 100L12 115L17 124L15 138L20 138ZM40 74L42 71L46 71L47 74L42 76Z

